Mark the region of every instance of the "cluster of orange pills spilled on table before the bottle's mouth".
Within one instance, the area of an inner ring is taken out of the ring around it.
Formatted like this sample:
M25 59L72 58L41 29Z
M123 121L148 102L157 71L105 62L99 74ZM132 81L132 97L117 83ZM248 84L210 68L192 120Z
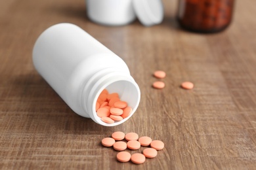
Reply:
M124 140L125 139L125 140ZM121 151L116 155L118 161L127 162L132 161L133 163L140 164L146 161L146 158L155 158L158 155L158 150L164 148L162 141L154 140L150 137L140 137L137 133L130 132L125 135L121 131L112 133L112 137L106 137L101 141L103 146L111 147L114 150ZM127 148L130 150L138 150L140 146L150 146L145 148L142 153L130 154L127 151L123 151Z

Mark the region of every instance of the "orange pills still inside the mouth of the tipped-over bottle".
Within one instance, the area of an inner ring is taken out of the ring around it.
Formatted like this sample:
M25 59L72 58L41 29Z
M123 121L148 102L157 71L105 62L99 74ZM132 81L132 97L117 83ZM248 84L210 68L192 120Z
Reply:
M98 96L95 110L103 122L113 124L127 118L133 109L127 102L120 100L118 93L108 93L108 90L104 89Z

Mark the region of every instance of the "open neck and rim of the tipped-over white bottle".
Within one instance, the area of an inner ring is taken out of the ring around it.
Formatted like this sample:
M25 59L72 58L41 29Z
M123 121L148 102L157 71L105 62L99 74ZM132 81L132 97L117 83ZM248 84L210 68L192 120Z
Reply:
M114 124L102 122L97 116L95 108L96 100L104 89L107 89L110 93L119 93L120 99L126 101L133 112L127 118ZM81 97L81 105L93 121L103 126L117 126L128 120L139 106L140 89L129 73L116 69L104 69L98 71L87 81Z

